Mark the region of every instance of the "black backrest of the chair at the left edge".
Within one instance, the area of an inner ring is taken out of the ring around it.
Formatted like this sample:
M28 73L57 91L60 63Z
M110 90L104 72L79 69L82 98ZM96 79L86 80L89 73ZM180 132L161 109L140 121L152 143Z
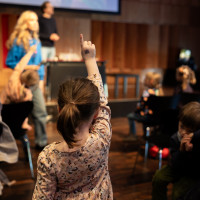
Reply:
M3 105L2 121L9 126L15 138L19 138L23 134L22 124L32 109L32 101Z

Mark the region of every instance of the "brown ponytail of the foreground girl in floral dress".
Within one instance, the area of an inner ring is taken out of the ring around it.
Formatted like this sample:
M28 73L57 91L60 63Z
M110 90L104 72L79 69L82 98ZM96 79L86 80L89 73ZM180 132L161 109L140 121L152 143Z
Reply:
M73 147L73 143L76 143L74 135L76 129L80 125L80 112L75 104L68 103L61 109L58 121L57 130L62 134L63 139L67 142L69 148Z

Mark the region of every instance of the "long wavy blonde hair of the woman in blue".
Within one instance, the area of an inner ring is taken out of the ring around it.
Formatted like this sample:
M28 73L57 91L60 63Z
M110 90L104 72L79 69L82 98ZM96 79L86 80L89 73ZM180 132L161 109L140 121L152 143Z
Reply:
M15 25L14 31L10 35L6 46L8 49L12 48L13 43L16 39L16 44L17 45L23 45L24 49L28 51L30 44L29 44L29 39L30 36L32 38L38 39L38 29L36 31L32 31L32 33L29 31L28 26L27 26L27 21L30 19L30 15L37 14L31 10L24 11L19 19L17 20L17 24Z

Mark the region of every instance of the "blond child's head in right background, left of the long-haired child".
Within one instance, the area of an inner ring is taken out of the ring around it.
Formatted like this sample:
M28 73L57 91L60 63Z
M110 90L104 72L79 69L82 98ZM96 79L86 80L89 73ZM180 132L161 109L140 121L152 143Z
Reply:
M161 87L162 76L158 72L147 72L144 79L144 85L151 89L158 89Z

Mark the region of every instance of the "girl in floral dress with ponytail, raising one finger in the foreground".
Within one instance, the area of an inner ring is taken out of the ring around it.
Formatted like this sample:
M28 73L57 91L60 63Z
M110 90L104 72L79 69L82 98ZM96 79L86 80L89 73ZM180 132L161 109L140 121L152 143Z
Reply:
M113 199L108 172L110 108L95 60L95 46L81 39L88 79L68 80L58 94L58 132L40 153L33 200Z

